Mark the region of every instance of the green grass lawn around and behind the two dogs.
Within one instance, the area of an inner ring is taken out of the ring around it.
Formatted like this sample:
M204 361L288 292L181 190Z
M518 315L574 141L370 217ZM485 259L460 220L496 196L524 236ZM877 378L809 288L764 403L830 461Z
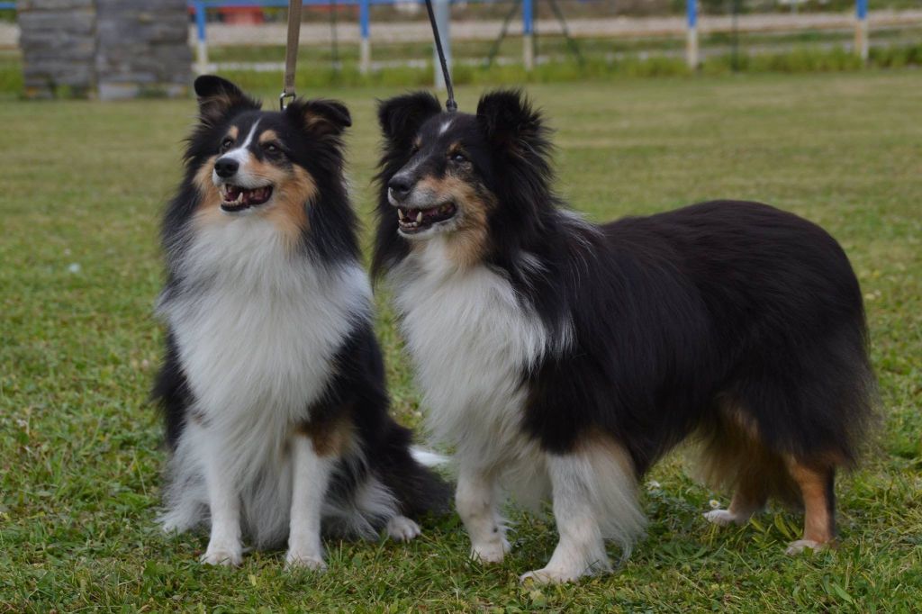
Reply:
M614 80L529 88L557 129L560 190L590 218L712 197L773 203L845 246L867 301L882 420L866 464L838 484L841 547L789 558L801 517L771 508L716 528L727 502L681 454L644 483L648 535L619 573L521 587L556 542L513 514L500 566L467 560L456 517L409 545L326 543L324 575L279 552L236 570L197 562L205 535L164 537L160 420L146 400L162 331L157 224L179 178L191 100L0 103L0 611L829 611L922 604L922 76L918 71ZM316 90L354 114L349 175L372 209L374 99ZM274 104L274 90L262 92ZM460 89L462 110L479 90ZM365 237L370 235L366 225ZM366 241L367 244L367 241ZM396 413L420 423L380 297ZM617 554L612 551L612 554Z

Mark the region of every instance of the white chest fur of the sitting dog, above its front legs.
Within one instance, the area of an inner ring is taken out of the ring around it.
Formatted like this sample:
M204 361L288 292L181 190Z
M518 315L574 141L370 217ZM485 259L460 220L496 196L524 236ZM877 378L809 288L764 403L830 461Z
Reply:
M325 388L371 290L357 264L291 254L271 223L234 218L199 230L183 290L160 304L209 428L225 440L283 436Z

